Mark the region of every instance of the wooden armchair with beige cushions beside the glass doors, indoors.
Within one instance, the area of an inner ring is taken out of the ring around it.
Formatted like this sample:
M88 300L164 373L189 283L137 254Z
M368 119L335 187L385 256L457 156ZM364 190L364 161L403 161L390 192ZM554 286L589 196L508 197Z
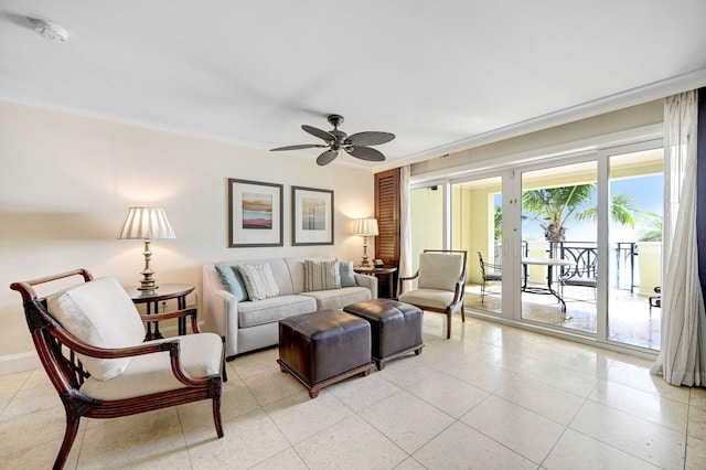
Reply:
M414 276L399 277L400 302L410 303L421 310L443 313L446 338L451 338L451 316L463 311L466 266L468 253L454 249L425 249L419 255L419 269ZM404 281L417 279L417 289L403 292Z

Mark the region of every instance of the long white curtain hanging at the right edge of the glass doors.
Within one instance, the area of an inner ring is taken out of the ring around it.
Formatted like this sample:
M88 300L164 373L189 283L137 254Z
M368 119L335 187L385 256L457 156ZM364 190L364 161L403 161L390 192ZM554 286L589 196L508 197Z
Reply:
M652 366L672 385L706 384L706 313L696 246L698 92L664 103L662 350Z

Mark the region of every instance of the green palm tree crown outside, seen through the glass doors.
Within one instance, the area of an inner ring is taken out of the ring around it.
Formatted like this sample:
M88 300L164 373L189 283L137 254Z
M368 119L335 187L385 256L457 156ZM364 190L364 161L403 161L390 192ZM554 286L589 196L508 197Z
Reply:
M596 221L596 206L576 212L588 203L596 192L596 184L577 184L574 186L546 188L525 191L522 193L522 207L535 214L536 221L544 228L547 242L564 242L566 239L566 222L574 216L577 221ZM611 202L611 218L622 225L634 226L633 214L639 211L634 199L628 194L613 194ZM539 218L542 217L542 218Z

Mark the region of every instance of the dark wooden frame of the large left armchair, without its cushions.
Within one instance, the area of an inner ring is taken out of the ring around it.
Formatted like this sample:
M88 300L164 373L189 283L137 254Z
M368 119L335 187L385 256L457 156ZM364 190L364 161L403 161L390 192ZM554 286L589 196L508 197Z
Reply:
M76 269L54 276L39 279L13 282L10 288L21 293L24 314L32 334L34 346L40 361L46 371L52 384L58 392L66 412L66 431L62 447L54 461L54 469L62 469L78 431L78 423L82 417L88 418L116 418L120 416L136 415L159 408L182 405L202 399L213 400L213 420L216 434L223 437L221 421L221 393L225 375L225 357L221 363L221 374L208 377L193 377L189 375L181 364L181 350L179 338L170 339L156 344L143 344L132 348L103 349L87 344L68 331L50 314L46 309L46 298L38 297L32 286L51 282L72 276L82 276L85 282L93 280L93 276L86 269ZM141 314L143 322L163 321L173 318L191 317L191 327L194 333L200 333L196 309L184 309L150 316ZM169 352L171 370L174 377L185 385L169 392L161 392L133 398L101 400L92 398L81 393L79 388L89 376L76 357L76 353L90 357L117 359L130 357L142 354Z

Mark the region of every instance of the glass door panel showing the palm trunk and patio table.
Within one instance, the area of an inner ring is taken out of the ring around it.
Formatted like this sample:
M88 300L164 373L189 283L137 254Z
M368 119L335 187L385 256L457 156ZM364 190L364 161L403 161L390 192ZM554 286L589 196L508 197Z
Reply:
M597 162L527 170L521 178L521 318L595 334Z

